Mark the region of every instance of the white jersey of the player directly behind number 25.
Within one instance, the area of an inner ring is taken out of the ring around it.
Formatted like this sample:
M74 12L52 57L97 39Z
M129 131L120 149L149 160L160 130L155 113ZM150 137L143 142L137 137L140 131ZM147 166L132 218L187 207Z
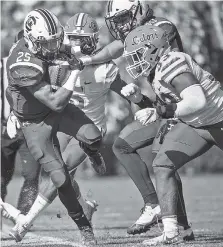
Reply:
M113 62L86 66L77 79L70 100L102 130L106 130L107 94L118 72L119 69Z

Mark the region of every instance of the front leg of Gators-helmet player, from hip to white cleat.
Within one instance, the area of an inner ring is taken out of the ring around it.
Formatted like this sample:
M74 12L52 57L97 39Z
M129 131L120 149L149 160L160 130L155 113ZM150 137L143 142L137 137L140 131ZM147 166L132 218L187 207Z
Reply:
M191 127L178 123L165 136L164 142L153 161L164 233L144 244L170 244L187 240L179 233L177 225L178 188L175 171L188 161L205 152L210 145Z

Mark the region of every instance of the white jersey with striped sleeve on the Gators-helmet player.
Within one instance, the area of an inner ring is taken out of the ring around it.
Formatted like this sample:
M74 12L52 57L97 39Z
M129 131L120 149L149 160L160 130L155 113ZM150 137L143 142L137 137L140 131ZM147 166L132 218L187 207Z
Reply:
M220 82L203 70L188 54L172 51L161 58L152 83L158 97L165 103L179 102L181 98L171 86L171 81L184 72L193 73L200 82L207 103L203 109L182 117L181 120L195 127L223 121L223 91L220 89Z

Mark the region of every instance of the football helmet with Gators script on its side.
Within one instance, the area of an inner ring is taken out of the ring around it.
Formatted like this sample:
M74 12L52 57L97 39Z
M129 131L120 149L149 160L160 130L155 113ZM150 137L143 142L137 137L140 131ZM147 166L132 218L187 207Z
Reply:
M160 27L137 27L127 35L124 42L123 56L128 64L126 70L134 79L141 75L148 76L169 47L166 31Z

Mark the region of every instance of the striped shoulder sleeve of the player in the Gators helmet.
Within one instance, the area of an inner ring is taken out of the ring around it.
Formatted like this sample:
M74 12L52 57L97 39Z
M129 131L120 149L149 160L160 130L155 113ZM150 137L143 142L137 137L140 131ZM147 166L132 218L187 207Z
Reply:
M190 72L186 57L182 52L170 52L164 55L156 67L156 77L170 83L174 77L184 72Z

